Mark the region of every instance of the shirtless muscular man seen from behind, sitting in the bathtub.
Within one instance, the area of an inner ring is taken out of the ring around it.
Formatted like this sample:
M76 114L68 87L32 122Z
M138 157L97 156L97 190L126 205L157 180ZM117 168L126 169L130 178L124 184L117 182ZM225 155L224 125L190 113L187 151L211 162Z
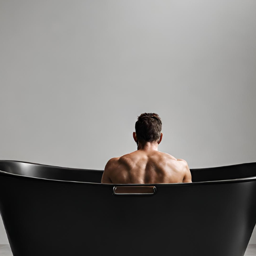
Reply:
M158 151L162 122L158 114L141 114L135 123L133 139L137 151L111 158L104 169L101 183L155 184L192 182L190 168L183 159Z

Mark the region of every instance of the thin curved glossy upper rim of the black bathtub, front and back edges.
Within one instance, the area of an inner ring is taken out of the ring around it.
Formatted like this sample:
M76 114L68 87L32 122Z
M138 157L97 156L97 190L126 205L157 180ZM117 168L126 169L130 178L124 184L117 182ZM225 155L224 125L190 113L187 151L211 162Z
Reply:
M39 165L39 166L50 166L50 167L57 167L57 168L65 168L65 169L75 169L75 170L90 170L90 171L103 171L103 170L93 170L93 169L80 169L80 168L72 168L72 167L63 167L63 166L51 166L51 165L44 165L38 164L33 162L25 162L25 161L16 161L16 160L0 160L0 161L9 161L9 162L19 162L19 163L27 163L32 165ZM205 168L191 168L191 169L215 169L215 168L222 168L222 167L229 167L229 166L239 166L239 165L246 165L246 164L256 164L256 162L247 162L235 165L228 165L228 166L217 166L217 167L205 167ZM38 179L38 180L48 180L48 181L57 181L57 182L66 182L66 183L81 183L81 184L91 184L91 185L103 185L103 186L177 186L177 185L211 185L211 184L229 184L229 183L241 183L241 182L249 182L249 181L256 181L256 176L251 176L247 178L239 178L239 179L232 179L232 180L209 180L209 181L198 181L198 182L191 182L191 183L147 183L147 184L118 184L118 183L98 183L98 182L86 182L86 181L75 181L75 180L54 180L54 179L46 179L46 178L39 178L27 175L20 175L15 173L10 173L7 171L1 171L7 176L16 176L19 179Z

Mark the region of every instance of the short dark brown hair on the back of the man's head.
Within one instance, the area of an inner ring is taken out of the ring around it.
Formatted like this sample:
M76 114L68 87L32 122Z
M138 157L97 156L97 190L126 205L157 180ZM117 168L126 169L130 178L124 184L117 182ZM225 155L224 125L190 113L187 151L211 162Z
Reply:
M158 114L144 113L138 116L135 123L137 140L140 142L157 141L162 130L162 121Z

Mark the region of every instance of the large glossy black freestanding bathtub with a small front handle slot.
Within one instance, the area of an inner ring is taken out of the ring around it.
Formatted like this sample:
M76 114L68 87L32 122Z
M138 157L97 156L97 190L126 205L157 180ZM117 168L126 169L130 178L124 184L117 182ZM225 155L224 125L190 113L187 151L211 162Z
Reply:
M243 256L256 223L256 162L190 171L193 183L137 190L100 184L103 171L0 161L13 255Z

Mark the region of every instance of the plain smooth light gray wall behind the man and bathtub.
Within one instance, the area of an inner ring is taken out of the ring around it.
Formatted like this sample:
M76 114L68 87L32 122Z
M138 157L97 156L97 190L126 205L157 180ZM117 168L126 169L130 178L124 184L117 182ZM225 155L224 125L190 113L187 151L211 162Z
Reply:
M0 0L0 159L104 169L156 112L190 168L252 162L255 96L255 0Z

